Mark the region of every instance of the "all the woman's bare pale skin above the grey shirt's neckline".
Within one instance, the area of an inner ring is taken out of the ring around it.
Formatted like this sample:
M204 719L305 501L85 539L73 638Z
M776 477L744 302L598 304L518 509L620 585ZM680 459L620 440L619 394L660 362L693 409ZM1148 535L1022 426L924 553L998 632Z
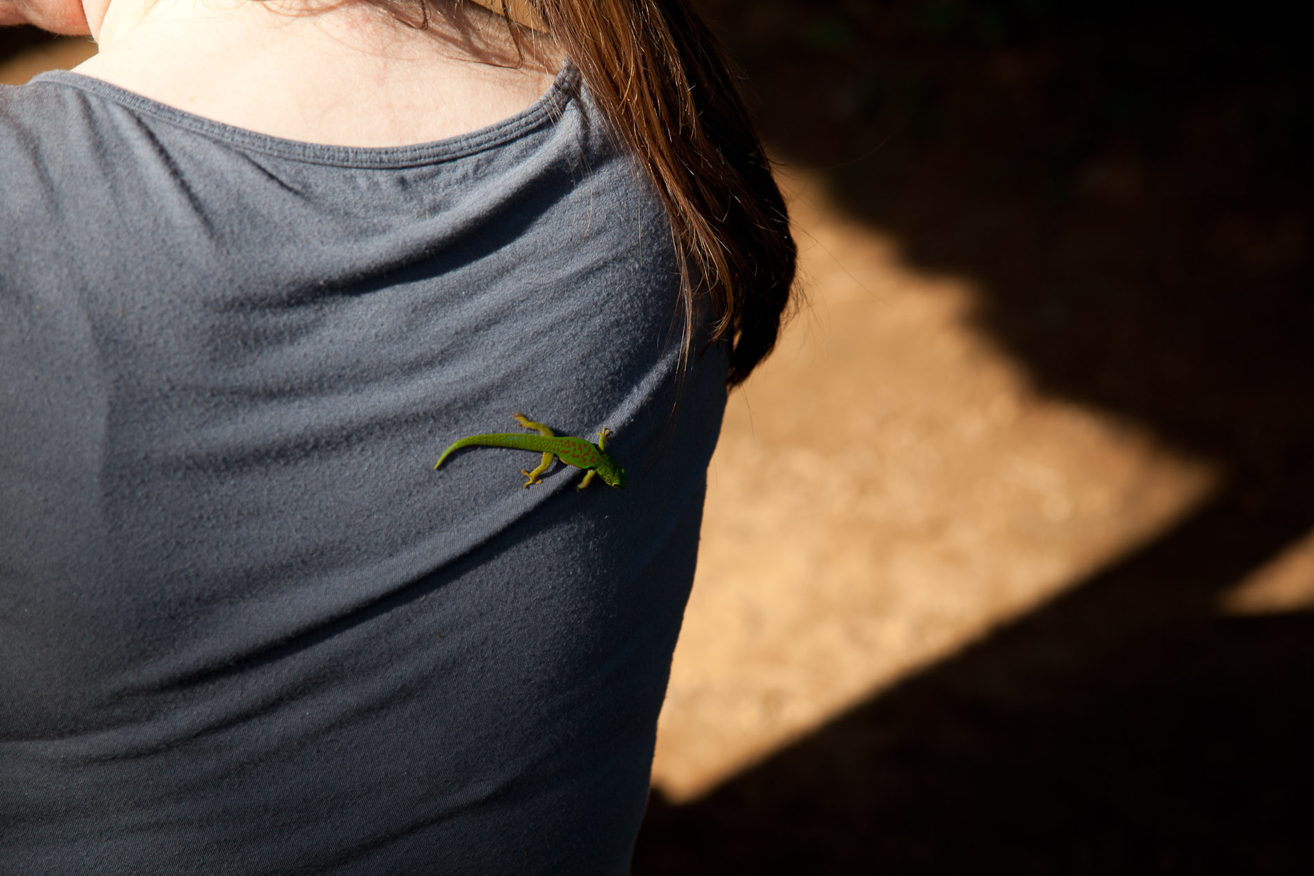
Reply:
M0 22L91 34L76 67L177 109L261 134L403 146L514 116L551 85L551 41L461 4L410 28L363 0L0 0Z

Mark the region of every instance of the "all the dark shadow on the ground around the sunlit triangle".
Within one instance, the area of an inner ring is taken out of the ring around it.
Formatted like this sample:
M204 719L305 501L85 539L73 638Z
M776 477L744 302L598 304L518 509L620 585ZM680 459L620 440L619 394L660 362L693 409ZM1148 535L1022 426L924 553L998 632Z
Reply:
M1226 477L707 797L654 795L635 872L1314 872L1314 615L1217 608L1314 528L1310 8L699 5L783 162L972 278L1042 391Z

